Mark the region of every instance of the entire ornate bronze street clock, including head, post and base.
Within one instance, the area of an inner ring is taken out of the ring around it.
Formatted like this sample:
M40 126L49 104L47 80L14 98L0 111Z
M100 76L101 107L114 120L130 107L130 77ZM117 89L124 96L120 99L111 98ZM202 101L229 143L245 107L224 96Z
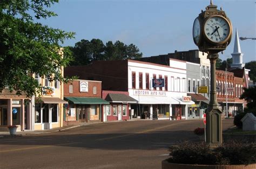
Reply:
M196 24L199 22L198 24ZM216 60L219 58L218 52L226 49L232 37L232 24L226 13L213 5L206 6L205 11L201 11L195 19L193 25L193 39L199 51L207 53L207 59L211 64L211 91L210 103L206 110L206 143L210 147L222 144L222 111L219 109L216 91Z

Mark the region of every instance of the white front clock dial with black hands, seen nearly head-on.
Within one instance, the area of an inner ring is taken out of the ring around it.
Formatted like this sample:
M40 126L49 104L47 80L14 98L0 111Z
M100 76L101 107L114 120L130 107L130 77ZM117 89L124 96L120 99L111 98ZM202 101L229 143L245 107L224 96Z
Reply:
M210 17L204 25L205 36L214 43L224 42L230 35L230 24L220 16Z

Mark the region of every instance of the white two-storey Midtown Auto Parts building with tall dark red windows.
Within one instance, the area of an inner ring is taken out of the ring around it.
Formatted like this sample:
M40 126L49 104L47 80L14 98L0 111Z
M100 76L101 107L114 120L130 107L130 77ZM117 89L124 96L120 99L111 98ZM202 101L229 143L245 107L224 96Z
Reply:
M170 60L170 65L128 60L128 90L138 100L131 105L133 118L187 119L186 62ZM163 87L153 87L154 79L164 80Z

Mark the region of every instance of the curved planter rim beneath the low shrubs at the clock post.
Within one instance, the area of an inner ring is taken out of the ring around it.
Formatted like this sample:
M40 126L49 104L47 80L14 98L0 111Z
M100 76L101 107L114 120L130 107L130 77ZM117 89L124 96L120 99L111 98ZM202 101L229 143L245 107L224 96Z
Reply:
M162 161L162 169L255 169L256 164L249 165L195 165L195 164L174 164L167 160Z

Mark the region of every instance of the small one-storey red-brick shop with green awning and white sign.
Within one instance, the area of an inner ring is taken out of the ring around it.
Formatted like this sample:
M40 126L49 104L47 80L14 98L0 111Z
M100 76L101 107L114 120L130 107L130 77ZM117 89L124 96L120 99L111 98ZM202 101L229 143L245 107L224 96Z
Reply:
M102 82L92 80L73 80L64 84L64 124L71 125L90 121L102 121L103 105Z

